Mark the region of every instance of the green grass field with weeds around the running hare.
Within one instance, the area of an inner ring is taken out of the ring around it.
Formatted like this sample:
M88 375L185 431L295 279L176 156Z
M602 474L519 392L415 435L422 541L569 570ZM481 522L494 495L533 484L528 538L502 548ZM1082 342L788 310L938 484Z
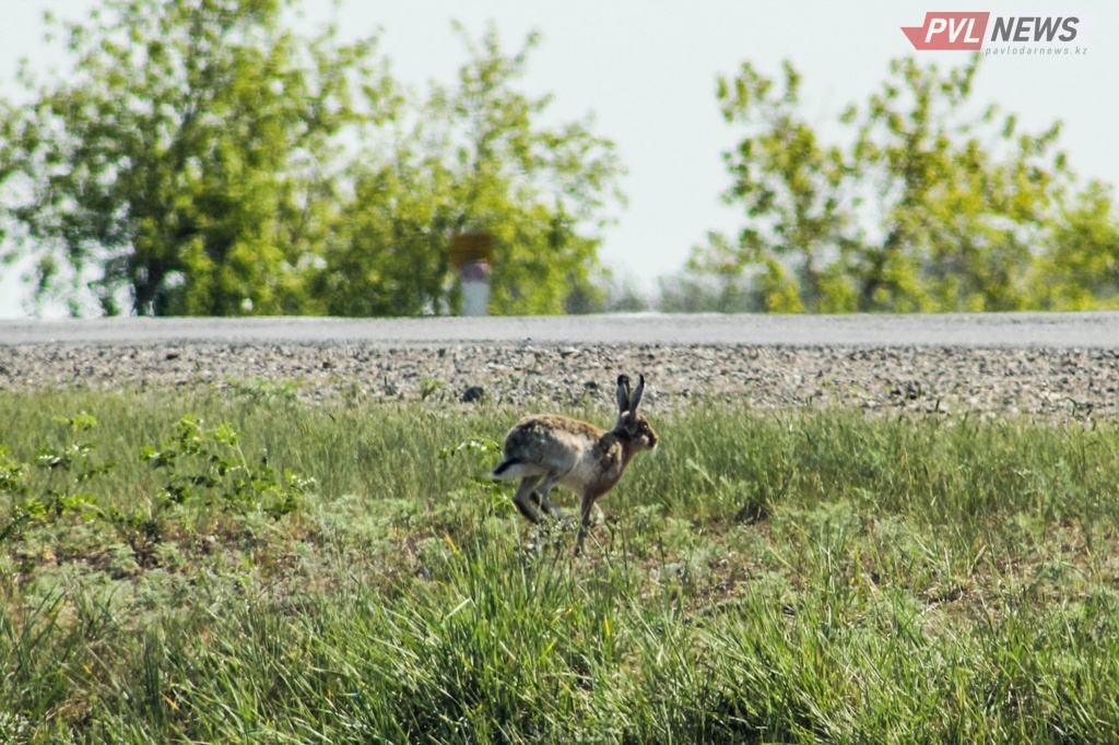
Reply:
M576 559L520 414L0 393L0 742L1119 741L1116 422L650 407Z

